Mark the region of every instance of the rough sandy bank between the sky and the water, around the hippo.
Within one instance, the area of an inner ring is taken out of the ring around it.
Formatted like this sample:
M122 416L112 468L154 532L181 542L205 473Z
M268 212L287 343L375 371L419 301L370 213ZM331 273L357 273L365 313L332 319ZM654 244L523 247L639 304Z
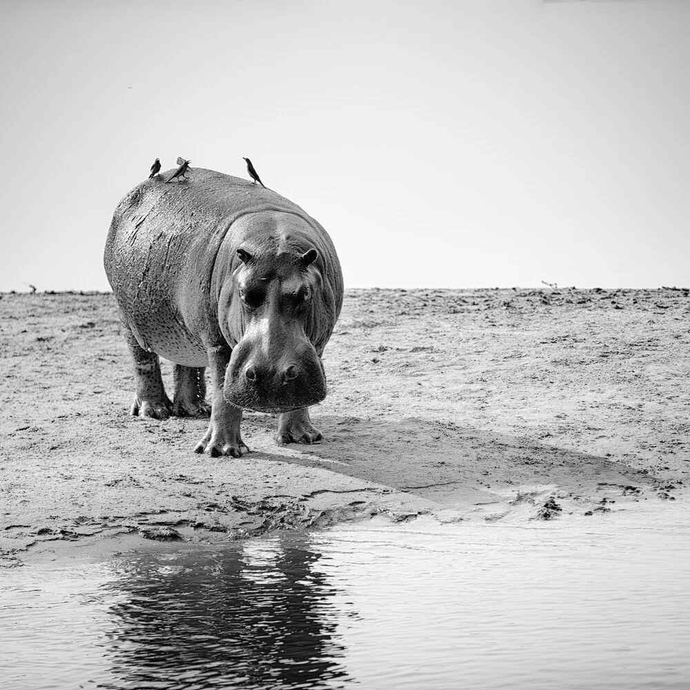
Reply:
M312 410L324 442L278 446L275 419L248 413L234 460L193 453L204 420L128 416L112 295L1 295L0 563L124 533L605 520L684 500L689 324L675 288L348 290Z

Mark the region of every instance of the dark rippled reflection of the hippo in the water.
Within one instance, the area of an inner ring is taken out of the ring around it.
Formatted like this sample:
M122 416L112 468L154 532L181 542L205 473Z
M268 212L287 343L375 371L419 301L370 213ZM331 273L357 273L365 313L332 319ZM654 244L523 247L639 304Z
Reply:
M117 562L103 593L126 595L110 609L112 687L333 687L344 650L318 558L296 538L274 538Z

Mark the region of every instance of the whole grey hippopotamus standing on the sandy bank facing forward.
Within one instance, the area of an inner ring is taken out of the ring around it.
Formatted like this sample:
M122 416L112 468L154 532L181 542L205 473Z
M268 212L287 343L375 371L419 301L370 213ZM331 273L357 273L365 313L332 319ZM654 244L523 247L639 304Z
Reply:
M195 451L213 457L248 452L243 408L276 414L279 443L320 440L308 408L326 397L321 357L343 299L331 237L248 180L194 168L165 184L172 172L120 201L103 256L134 359L130 413L210 415ZM173 364L172 402L159 356Z

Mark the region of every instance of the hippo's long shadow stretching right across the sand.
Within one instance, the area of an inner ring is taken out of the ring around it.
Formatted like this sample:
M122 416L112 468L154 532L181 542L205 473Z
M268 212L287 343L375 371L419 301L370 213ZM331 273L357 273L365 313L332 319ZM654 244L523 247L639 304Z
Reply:
M266 417L252 416L248 422L254 427L248 429L248 439L262 428L273 433ZM256 450L447 505L549 489L575 497L639 495L655 481L646 471L607 457L453 422L331 415L316 417L315 424L324 433L323 442L283 447L255 443Z

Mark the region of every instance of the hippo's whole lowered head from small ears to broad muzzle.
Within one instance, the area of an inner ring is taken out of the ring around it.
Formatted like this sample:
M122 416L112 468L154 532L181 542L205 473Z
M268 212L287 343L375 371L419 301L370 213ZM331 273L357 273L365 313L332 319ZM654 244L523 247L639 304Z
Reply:
M270 413L324 400L319 253L314 248L281 253L238 249L237 259L223 323L228 342L234 344L225 399Z

